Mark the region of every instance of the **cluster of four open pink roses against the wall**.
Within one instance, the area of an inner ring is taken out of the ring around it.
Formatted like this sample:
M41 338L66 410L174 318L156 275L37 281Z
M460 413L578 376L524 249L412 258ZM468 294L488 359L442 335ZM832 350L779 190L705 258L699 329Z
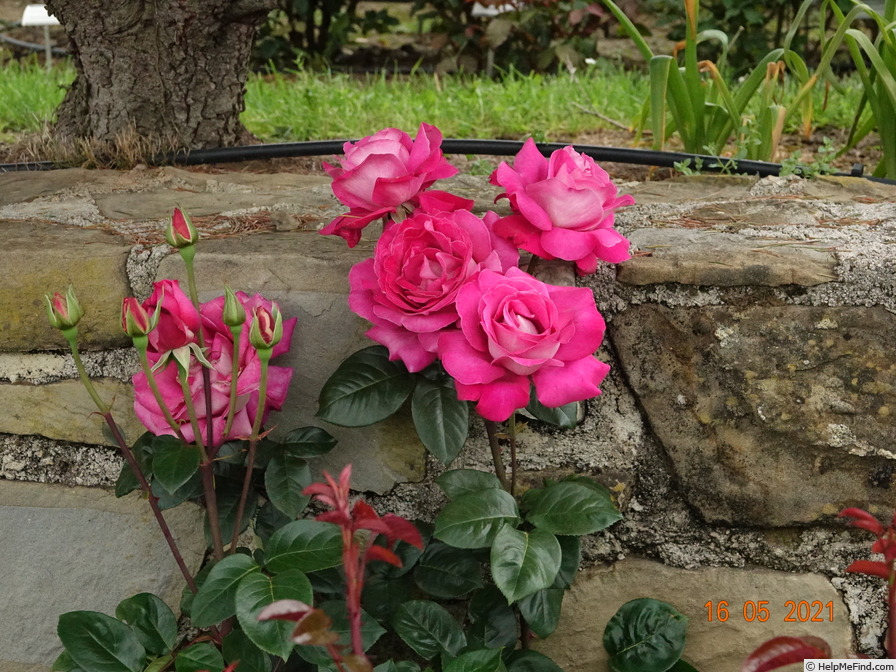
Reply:
M594 357L605 325L593 294L527 275L518 248L580 273L627 259L613 219L633 199L590 157L567 147L546 159L529 140L491 176L513 214L478 217L471 201L425 191L457 172L440 145L428 124L415 139L385 129L347 143L341 168L327 166L350 211L322 233L354 246L367 224L384 222L373 258L349 276L349 305L373 324L367 335L409 371L440 359L458 398L488 420L525 407L530 386L549 407L600 394L609 367Z

